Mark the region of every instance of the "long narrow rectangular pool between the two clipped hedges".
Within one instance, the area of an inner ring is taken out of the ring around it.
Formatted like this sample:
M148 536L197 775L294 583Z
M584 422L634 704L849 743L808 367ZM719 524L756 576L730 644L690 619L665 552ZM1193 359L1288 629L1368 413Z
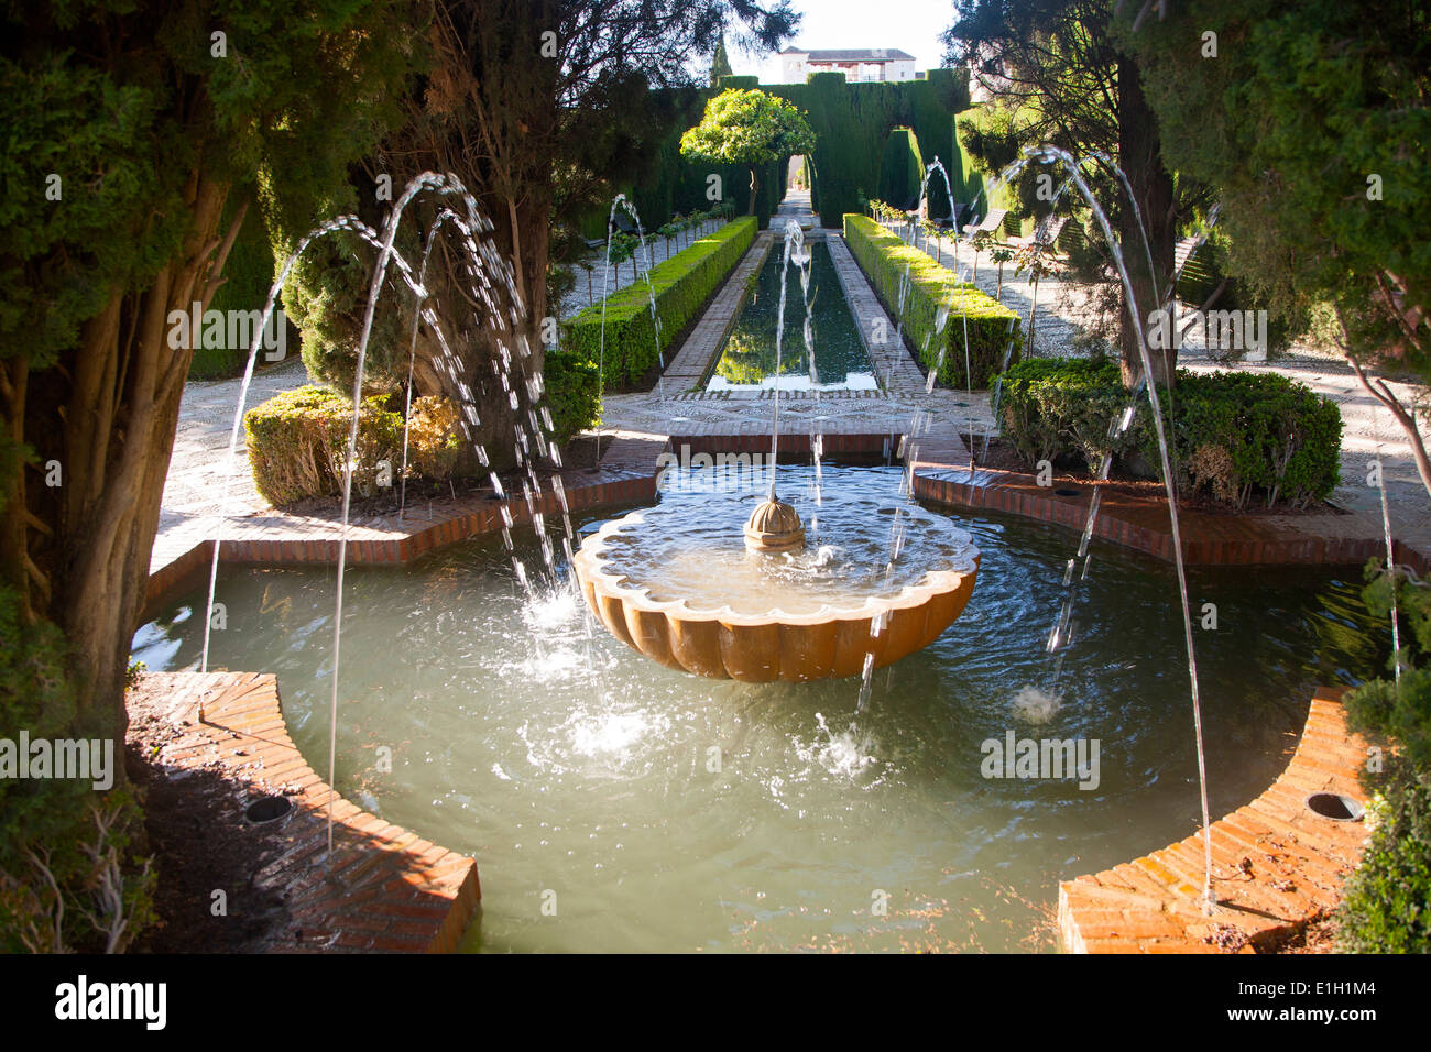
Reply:
M806 349L806 305L800 268L786 273L786 318L778 385L781 391L874 391L879 384L864 351L830 249L814 242L810 260L810 326L814 355ZM770 391L776 386L776 322L784 246L776 242L756 288L721 348L707 391Z

